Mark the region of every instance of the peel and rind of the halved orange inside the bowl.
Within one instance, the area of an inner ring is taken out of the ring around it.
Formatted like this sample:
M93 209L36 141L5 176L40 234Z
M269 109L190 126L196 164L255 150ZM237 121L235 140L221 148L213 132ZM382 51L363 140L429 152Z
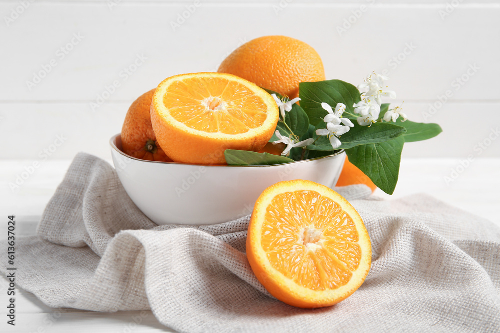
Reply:
M205 73L193 74L202 75ZM176 77L182 77L184 75L186 74L175 75L165 79L164 81ZM240 80L241 78L237 79ZM247 83L253 85L251 82ZM160 83L160 85L161 84L162 83ZM259 87L255 88L264 93L266 96L269 96L263 89L260 89ZM222 139L207 136L196 136L186 134L183 129L177 126L172 126L167 120L158 114L157 110L159 107L156 106L155 103L161 103L162 100L163 96L159 96L157 100L155 96L151 102L150 117L152 128L156 134L159 146L163 147L168 156L170 156L174 162L178 163L227 165L224 157L225 149L248 150L255 152L259 151L272 137L278 120L279 111L277 105L273 102L272 110L268 110L270 114L269 117L274 119L272 120L273 123L269 125L269 128L263 130L262 133L257 136L244 139L230 137Z

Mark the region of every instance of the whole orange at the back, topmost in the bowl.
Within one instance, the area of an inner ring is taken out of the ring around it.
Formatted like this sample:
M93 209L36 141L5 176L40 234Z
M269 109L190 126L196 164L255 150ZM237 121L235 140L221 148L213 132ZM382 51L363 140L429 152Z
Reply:
M290 99L300 82L323 81L319 54L308 44L286 36L263 36L236 48L218 72L234 74Z

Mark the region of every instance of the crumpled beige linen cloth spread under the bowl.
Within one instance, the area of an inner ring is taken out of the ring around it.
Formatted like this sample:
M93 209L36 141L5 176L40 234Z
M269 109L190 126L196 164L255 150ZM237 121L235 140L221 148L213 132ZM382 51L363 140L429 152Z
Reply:
M362 185L336 190L363 218L373 254L364 284L333 307L269 296L246 261L249 216L158 227L108 163L83 153L38 235L16 241L16 283L50 307L151 309L179 332L500 332L499 228L426 195L385 201Z

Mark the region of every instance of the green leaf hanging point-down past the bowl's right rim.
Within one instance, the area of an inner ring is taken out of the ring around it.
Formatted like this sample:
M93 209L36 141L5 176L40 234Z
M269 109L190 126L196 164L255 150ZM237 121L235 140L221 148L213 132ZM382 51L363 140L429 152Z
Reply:
M346 149L349 162L357 166L373 183L388 194L394 192L404 139L359 145Z

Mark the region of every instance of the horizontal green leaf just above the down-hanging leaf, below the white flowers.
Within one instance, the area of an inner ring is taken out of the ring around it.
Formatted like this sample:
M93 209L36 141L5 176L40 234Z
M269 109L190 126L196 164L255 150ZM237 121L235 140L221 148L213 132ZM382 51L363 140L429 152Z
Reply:
M338 149L352 148L367 143L379 143L404 135L406 129L388 123L373 123L371 126L354 126L339 137L342 144Z

